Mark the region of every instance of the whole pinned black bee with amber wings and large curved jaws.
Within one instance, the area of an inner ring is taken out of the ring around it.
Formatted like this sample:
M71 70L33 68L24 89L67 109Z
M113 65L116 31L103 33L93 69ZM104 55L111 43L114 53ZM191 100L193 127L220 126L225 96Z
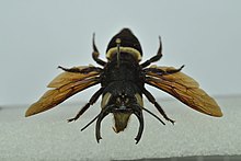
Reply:
M73 68L58 67L64 70L47 87L51 88L25 113L32 116L50 110L66 101L68 97L81 92L90 87L101 84L101 88L91 96L89 102L68 122L77 120L100 96L101 112L81 130L85 129L96 120L95 137L99 142L101 137L101 122L110 113L114 116L114 131L123 131L128 124L131 114L136 115L139 122L138 134L135 138L139 142L144 131L144 115L147 112L156 117L160 123L165 123L156 114L145 107L142 96L153 104L164 119L174 124L154 96L146 89L145 84L160 89L182 103L200 113L221 117L222 112L217 102L210 97L199 84L181 68L150 66L162 57L162 42L159 36L159 49L157 55L140 62L142 49L138 38L129 28L123 28L108 43L106 49L106 61L99 58L100 53L92 39L93 60L101 67L80 66Z

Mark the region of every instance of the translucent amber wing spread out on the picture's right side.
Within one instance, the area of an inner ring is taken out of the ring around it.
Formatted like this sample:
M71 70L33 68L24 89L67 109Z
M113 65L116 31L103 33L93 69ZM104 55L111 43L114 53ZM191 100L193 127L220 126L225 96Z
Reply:
M156 67L163 71L175 70L173 67ZM221 117L222 112L217 102L210 97L199 84L191 77L179 71L171 74L160 74L148 71L147 83L153 85L169 94L175 96L177 100L187 106L216 117Z

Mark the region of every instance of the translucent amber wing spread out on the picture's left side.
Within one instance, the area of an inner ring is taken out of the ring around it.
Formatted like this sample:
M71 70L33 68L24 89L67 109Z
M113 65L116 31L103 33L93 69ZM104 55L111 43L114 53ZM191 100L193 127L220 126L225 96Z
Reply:
M74 68L83 69L88 67ZM73 72L60 73L48 84L48 88L55 89L48 90L36 103L32 104L26 111L25 116L27 117L50 110L71 95L97 84L96 77L99 74L96 71L87 74Z

